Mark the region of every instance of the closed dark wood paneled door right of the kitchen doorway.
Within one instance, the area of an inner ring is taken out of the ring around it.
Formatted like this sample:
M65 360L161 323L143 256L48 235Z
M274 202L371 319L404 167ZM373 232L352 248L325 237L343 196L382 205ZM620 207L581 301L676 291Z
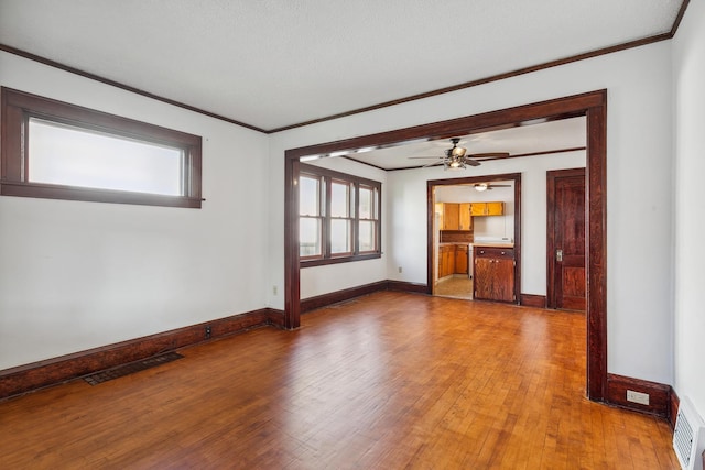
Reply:
M585 168L547 172L547 305L586 310Z

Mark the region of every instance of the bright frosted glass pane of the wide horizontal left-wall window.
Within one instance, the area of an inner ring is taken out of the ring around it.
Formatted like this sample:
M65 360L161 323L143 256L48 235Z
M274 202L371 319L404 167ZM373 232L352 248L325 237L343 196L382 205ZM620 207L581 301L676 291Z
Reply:
M29 181L183 196L184 152L30 119Z

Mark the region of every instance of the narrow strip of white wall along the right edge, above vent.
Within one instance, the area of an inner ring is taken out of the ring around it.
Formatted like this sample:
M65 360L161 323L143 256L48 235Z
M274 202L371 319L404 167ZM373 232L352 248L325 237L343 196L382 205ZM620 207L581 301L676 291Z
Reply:
M675 385L705 417L705 4L691 2L673 40L675 89Z

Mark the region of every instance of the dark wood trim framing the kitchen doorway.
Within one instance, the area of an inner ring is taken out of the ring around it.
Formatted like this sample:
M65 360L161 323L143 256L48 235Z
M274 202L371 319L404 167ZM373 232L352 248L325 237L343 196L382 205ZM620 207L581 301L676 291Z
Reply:
M521 173L505 173L500 175L480 175L460 178L430 179L426 182L426 284L429 294L433 291L433 269L437 262L433 245L433 221L434 221L434 189L436 186L456 186L463 184L484 183L488 178L494 182L514 182L514 292L517 293L517 304L521 292Z

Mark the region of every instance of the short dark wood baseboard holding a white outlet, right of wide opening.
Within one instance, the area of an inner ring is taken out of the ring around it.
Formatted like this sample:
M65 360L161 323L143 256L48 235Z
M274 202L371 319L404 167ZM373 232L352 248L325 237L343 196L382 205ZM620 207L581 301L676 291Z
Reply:
M628 402L627 390L648 394L649 405ZM617 374L607 374L607 402L611 405L669 419L671 415L670 395L670 385Z

